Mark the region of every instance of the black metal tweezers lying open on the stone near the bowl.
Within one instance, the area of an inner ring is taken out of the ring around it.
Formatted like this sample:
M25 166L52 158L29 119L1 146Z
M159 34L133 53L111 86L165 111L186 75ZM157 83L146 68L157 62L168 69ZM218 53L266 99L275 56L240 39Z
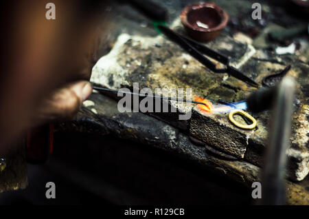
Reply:
M178 45L183 48L186 52L188 52L190 55L192 55L195 59L197 59L200 63L208 67L212 72L214 73L227 73L236 79L239 79L240 81L243 81L244 83L247 83L248 85L251 85L253 87L258 87L258 83L250 79L248 76L244 75L242 72L237 70L235 67L232 67L229 65L229 58L227 56L224 56L214 50L211 50L210 48L207 48L205 45L201 45L200 43L197 43L196 41L193 41L192 39L189 39L185 36L182 36L181 34L178 34L174 32L173 30L170 30L170 28L158 25L157 26L159 30L168 37L171 41L174 41ZM215 59L216 61L226 65L226 68L217 68L216 64L207 59L205 56L209 56L212 59Z

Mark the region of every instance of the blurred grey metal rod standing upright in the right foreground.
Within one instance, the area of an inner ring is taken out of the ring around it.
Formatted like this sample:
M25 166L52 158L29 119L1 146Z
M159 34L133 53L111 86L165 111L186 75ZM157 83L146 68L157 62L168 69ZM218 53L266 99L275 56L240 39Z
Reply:
M288 76L277 86L271 138L262 174L262 205L286 204L286 149L290 145L295 87L295 80Z

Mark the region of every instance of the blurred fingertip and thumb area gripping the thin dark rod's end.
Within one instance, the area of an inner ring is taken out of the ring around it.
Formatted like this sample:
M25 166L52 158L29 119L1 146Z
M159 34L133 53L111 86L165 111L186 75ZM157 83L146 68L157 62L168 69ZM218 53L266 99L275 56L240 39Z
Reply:
M91 83L88 81L70 83L56 90L52 96L43 100L41 106L38 107L35 125L73 118L82 102L89 97L91 92Z

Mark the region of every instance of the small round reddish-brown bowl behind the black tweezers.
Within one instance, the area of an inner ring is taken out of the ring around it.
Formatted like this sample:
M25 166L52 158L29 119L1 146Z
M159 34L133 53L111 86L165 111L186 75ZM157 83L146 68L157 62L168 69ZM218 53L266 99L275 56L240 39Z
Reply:
M227 25L229 16L215 3L193 3L183 9L181 23L187 33L197 41L215 39Z

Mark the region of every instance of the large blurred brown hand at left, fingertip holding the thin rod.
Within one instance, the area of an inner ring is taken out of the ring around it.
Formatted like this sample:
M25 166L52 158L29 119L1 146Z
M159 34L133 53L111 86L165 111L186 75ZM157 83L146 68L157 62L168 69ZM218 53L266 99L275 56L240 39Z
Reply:
M8 21L1 41L0 154L27 129L72 118L91 94L102 19L90 2L54 0L54 21L45 19L45 1L5 1L0 9Z

